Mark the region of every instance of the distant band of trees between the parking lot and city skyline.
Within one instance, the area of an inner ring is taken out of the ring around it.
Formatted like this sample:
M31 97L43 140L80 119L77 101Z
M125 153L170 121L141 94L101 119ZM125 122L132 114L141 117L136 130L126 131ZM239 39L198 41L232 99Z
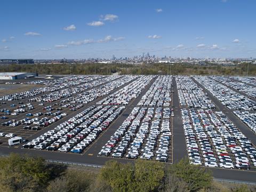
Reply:
M239 63L234 66L220 65L188 65L187 63L142 63L131 65L122 63L76 63L76 64L33 64L33 65L1 65L0 72L28 72L40 75L247 75L248 63ZM249 64L249 76L256 75L256 65Z

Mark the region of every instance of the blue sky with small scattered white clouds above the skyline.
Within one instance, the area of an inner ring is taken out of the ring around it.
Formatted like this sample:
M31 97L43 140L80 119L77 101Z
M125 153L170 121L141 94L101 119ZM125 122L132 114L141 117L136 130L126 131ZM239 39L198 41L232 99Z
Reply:
M256 57L255 0L1 0L0 58Z

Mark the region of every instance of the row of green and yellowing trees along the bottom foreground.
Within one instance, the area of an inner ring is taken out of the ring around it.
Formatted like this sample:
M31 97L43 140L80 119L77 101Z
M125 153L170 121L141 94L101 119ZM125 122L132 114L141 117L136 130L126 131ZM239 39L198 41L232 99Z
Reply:
M97 170L50 164L41 157L10 154L0 158L0 191L36 192L250 192L256 187L223 185L212 173L182 159L173 165L138 160L133 164L108 161Z

